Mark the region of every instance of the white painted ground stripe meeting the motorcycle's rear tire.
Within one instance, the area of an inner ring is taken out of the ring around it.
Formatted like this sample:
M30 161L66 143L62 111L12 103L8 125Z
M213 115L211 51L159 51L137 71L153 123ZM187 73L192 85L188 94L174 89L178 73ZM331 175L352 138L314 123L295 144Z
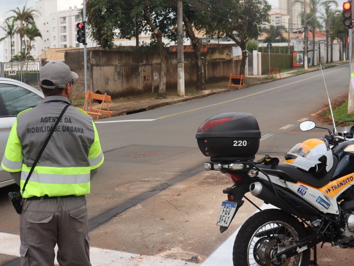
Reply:
M278 209L277 207L275 207L273 205L270 205L270 204L263 204L260 208L262 210L265 210L265 209ZM258 212L258 211L256 211L256 212ZM250 217L252 215L250 215ZM215 250L201 264L201 266L215 266L215 265L233 266L232 250L233 250L233 247L234 247L234 242L235 242L236 235L238 234L239 230L240 230L240 228L238 228L224 243L222 243L218 247L218 249Z

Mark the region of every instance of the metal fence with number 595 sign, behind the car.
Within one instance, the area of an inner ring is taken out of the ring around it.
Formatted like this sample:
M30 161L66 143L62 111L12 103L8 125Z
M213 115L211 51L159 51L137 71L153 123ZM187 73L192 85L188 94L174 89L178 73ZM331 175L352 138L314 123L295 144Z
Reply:
M0 77L12 78L38 88L41 61L0 62Z

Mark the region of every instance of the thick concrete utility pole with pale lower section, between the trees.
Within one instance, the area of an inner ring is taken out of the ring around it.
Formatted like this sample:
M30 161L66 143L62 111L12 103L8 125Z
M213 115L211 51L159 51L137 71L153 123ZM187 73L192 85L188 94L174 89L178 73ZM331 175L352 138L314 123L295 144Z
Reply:
M177 93L178 96L184 97L184 57L182 20L182 0L177 0Z

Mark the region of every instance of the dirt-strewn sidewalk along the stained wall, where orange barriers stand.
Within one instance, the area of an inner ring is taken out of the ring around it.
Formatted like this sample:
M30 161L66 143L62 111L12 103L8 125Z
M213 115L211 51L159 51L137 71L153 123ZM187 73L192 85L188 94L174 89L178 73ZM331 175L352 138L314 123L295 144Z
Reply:
M325 69L328 67L342 65L343 63L345 63L345 61L337 61L334 63L323 64L322 68ZM310 66L308 68L308 72L316 71L316 70L320 70L320 66ZM297 74L291 74L291 73L296 72L296 71L297 70L294 69L294 70L287 71L287 72L281 72L281 78L295 76ZM303 72L303 73L307 73L307 72ZM303 73L298 73L298 74L303 74ZM276 79L279 79L279 74ZM272 82L274 80L275 80L275 78L267 78L267 75L249 76L246 78L246 88L253 86L253 85ZM157 92L115 98L115 99L112 99L112 102L109 104L109 110L113 111L113 114L111 115L111 117L129 115L131 113L148 111L148 110L156 109L156 108L167 106L167 105L178 104L180 102L204 98L204 97L211 96L211 95L218 94L218 93L230 92L232 90L238 90L238 88L233 88L233 87L228 89L227 84L228 84L228 78L225 78L225 81L206 84L207 90L202 91L202 92L195 91L193 89L187 89L187 90L185 90L184 97L179 97L177 95L177 92L171 92L171 91L167 90L167 99L161 99L161 100L156 99ZM75 106L82 108L83 104L75 104ZM97 102L93 102L92 106L93 106L93 108L99 109L100 105ZM103 109L106 109L106 108L107 108L107 106L105 104L103 104ZM108 117L107 115L101 116L101 118L107 118L107 117ZM96 118L96 116L94 116L94 118Z

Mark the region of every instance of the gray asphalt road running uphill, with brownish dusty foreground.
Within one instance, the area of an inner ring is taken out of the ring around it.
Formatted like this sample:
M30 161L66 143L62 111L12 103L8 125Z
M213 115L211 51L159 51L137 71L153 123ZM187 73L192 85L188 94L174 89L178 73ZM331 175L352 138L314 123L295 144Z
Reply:
M331 99L348 92L348 65L326 69L324 76ZM326 103L324 81L316 71L99 120L105 161L87 196L92 246L188 263L206 260L256 209L245 205L228 231L218 232L215 220L224 200L222 189L232 183L201 171L208 158L198 149L196 129L217 113L252 113L263 137L257 156L281 158L296 143L325 134L320 129L301 132L298 124ZM15 185L0 189L0 232L18 235L18 216L7 200L7 192L14 189ZM0 264L15 262L16 256L0 250ZM144 265L134 263L129 265Z

